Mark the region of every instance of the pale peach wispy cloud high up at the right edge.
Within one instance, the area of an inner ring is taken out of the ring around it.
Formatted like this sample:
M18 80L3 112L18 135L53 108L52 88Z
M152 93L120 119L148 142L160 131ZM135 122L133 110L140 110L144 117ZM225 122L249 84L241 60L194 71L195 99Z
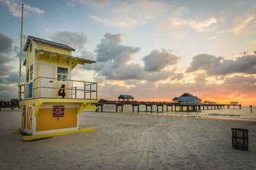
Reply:
M232 32L234 34L240 34L244 32L246 27L254 20L255 14L247 13L244 17L236 17L234 18L234 25L232 29L228 29L228 32Z

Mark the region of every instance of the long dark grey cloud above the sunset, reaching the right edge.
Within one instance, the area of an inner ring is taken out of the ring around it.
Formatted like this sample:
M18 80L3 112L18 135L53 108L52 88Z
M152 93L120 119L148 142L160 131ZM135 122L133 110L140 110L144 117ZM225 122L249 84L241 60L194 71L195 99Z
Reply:
M256 73L256 55L237 57L236 60L227 60L207 53L195 55L186 73L204 70L209 76L231 73Z

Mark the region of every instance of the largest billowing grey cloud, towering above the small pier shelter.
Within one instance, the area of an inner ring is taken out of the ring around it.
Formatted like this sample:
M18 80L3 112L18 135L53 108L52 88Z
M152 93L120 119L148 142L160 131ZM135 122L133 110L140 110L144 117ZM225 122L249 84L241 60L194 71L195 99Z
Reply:
M105 34L95 50L97 63L87 66L86 69L94 70L97 76L104 77L106 80L159 81L168 78L175 80L182 77L182 74L176 74L173 71L148 72L140 64L130 63L132 55L138 53L140 48L121 45L123 37L122 34ZM166 50L159 51L159 55L155 57L159 56L161 59L164 57L167 59L177 58ZM165 66L161 65L160 67Z

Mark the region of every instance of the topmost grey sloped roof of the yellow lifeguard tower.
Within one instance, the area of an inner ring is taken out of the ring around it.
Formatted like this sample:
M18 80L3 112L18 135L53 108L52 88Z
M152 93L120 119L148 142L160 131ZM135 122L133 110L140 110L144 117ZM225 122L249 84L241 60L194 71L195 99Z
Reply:
M74 48L71 48L70 46L67 46L67 45L63 45L63 44L60 44L60 43L48 41L48 40L46 40L46 39L41 39L41 38L37 38L37 37L34 37L34 36L28 36L27 41L26 41L26 44L25 44L25 46L24 46L24 51L25 51L25 52L28 50L29 42L30 42L31 40L32 40L32 41L38 41L38 42L40 42L40 43L44 43L44 44L47 44L47 45L57 46L57 47L59 47L59 48L64 48L65 50L72 50L72 51L75 51Z

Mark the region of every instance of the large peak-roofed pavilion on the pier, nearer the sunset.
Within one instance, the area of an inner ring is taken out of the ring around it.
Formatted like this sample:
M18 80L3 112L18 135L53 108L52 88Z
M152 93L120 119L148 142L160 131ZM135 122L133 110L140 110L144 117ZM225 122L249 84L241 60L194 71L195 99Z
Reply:
M202 99L189 93L184 93L180 97L174 97L172 101L180 105L199 105L201 104Z

